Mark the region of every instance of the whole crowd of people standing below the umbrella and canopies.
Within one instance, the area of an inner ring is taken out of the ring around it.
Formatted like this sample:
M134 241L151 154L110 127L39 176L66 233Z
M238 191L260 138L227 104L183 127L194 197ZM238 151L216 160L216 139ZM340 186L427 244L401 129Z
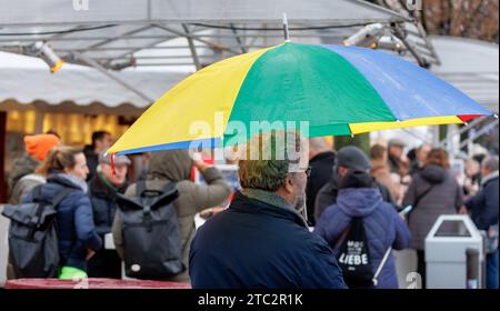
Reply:
M278 148L274 134L262 140ZM411 248L424 287L428 232L439 215L463 213L488 232L487 284L498 288L494 156L468 160L459 183L449 154L429 144L404 153L406 143L393 139L372 146L368 157L353 146L333 151L313 138L299 164L287 157L240 160L240 190L197 230L194 215L222 204L232 189L216 167L187 150L146 154L148 164L134 165L136 159L106 154L112 143L106 131L93 133L83 150L63 146L56 133L28 136L24 143L27 153L8 180L10 203L63 193L57 207L60 279L121 279L124 262L134 275L159 269L159 279L193 288L398 288L392 250ZM193 168L204 183L193 181ZM134 204L147 224L130 221ZM110 233L114 249L104 247ZM134 234L157 237L164 248L131 250ZM169 250L177 255L161 254ZM137 264L139 252L154 252L150 258L158 254L161 264ZM8 278L22 277L9 261Z

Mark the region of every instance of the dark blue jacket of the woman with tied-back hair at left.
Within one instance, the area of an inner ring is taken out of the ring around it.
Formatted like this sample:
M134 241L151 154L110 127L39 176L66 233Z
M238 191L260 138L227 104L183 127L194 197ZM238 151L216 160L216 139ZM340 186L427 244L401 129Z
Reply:
M102 240L93 227L92 207L89 197L79 185L61 174L53 174L48 178L47 183L41 188L41 195L53 198L63 188L72 188L74 191L62 199L57 207L60 265L87 270L87 248L97 251L102 247ZM23 202L31 201L32 193L29 193Z

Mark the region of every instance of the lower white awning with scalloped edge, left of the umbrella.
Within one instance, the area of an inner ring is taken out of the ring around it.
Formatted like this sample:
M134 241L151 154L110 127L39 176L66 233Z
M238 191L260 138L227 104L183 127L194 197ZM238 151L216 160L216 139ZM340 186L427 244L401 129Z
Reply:
M154 99L187 77L132 69L116 74ZM71 111L97 113L119 108L121 114L140 114L151 103L102 72L78 64L66 64L52 74L38 58L0 52L0 110L36 103L46 111L52 107L62 111L63 104Z

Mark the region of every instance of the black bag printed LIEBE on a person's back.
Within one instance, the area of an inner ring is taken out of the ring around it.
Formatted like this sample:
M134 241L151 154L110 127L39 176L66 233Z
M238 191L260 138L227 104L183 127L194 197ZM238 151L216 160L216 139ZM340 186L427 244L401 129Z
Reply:
M342 239L343 238L343 239ZM349 288L373 288L373 268L362 218L352 218L339 242L337 261Z

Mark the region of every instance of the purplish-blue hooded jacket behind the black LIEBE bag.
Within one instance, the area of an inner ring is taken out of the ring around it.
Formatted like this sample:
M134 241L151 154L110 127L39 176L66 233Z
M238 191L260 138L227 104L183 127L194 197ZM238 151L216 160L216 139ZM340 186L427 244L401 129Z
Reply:
M410 231L407 224L394 208L382 200L378 189L341 189L337 203L321 214L314 228L314 232L327 240L336 255L341 245L339 239L354 217L363 218L373 273L389 247L396 250L408 247ZM392 254L380 272L378 281L378 288L398 288Z

